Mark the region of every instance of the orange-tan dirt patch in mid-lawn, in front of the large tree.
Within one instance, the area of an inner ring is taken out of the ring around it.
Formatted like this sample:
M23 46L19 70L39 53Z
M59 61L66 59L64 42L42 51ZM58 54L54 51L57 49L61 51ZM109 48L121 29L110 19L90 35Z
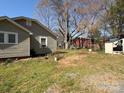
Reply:
M87 57L86 54L75 54L69 57L65 57L58 61L59 66L69 67L69 66L78 66L78 64L83 64L83 58Z

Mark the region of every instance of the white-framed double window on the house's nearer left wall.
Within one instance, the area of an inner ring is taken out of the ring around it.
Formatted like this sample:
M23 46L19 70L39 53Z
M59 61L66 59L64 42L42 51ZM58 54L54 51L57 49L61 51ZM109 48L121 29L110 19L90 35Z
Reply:
M17 44L18 34L13 32L0 31L0 44Z

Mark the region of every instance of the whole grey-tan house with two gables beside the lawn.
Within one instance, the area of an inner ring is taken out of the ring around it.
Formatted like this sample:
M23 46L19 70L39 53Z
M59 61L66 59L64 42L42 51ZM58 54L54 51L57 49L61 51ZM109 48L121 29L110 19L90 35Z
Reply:
M56 36L39 21L0 17L0 58L27 57L56 51Z

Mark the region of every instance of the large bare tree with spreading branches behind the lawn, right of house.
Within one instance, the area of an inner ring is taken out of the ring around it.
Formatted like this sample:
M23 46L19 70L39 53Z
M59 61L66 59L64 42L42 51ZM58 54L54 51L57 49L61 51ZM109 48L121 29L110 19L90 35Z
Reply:
M72 38L83 35L95 24L102 4L101 0L40 0L38 6L39 12L49 7L49 16L57 21L57 29L64 37L65 49L68 49Z

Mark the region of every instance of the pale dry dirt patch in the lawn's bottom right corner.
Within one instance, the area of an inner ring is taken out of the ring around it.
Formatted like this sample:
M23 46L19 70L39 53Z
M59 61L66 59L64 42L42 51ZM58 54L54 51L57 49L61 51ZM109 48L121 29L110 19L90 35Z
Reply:
M124 93L124 80L111 73L87 76L81 80L81 89L92 93Z

